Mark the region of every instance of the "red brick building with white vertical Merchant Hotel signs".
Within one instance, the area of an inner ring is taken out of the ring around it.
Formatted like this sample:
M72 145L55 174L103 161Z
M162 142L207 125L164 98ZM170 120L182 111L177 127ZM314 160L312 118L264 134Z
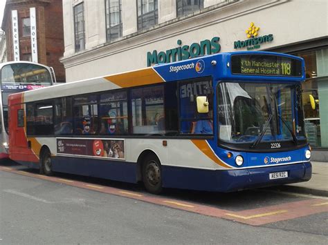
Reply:
M62 1L7 0L2 29L8 61L33 61L52 66L57 81L65 81Z

